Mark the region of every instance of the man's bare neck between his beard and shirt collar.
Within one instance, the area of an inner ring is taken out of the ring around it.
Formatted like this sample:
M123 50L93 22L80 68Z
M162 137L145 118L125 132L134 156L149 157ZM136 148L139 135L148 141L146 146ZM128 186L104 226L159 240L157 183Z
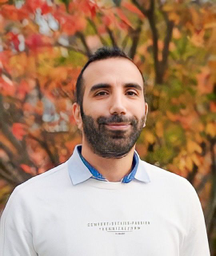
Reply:
M102 158L94 154L90 146L82 141L82 156L109 182L120 182L130 173L135 146L122 158Z

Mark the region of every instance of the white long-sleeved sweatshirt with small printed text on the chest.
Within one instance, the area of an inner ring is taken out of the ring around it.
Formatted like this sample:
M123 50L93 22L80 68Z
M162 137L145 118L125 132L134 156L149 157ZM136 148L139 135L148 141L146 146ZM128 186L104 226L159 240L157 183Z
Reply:
M185 178L139 160L149 182L74 185L69 170L80 161L75 152L14 190L0 256L210 256L202 207Z

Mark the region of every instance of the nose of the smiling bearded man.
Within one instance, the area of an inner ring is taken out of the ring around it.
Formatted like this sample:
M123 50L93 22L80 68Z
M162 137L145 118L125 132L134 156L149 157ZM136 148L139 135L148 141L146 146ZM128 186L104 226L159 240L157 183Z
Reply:
M110 102L110 114L126 114L126 106L121 94L115 94Z

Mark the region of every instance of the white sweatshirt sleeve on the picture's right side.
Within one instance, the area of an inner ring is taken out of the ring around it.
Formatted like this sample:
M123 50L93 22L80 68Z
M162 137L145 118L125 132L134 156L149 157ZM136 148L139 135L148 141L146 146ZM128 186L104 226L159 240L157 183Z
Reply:
M202 206L194 187L188 182L188 234L186 234L181 247L180 256L210 256L210 248L206 233L206 223Z

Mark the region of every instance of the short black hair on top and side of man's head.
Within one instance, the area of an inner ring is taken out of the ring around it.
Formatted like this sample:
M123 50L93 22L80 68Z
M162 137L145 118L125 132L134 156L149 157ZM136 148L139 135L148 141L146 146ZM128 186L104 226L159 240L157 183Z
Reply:
M84 81L82 78L82 74L86 70L86 67L89 66L91 62L96 62L106 58L127 58L128 60L130 60L130 62L133 62L133 60L129 56L127 56L126 53L123 50L119 49L117 46L114 46L114 47L103 46L98 50L96 50L95 53L90 56L88 62L86 62L85 66L83 66L80 74L78 75L76 88L75 88L75 102L77 102L78 105L81 106L81 109L82 109L82 101L83 101L83 95L84 95ZM137 66L135 63L134 65ZM139 72L142 75L141 70L139 70ZM142 75L142 80L144 84L145 80L143 78L143 75Z

